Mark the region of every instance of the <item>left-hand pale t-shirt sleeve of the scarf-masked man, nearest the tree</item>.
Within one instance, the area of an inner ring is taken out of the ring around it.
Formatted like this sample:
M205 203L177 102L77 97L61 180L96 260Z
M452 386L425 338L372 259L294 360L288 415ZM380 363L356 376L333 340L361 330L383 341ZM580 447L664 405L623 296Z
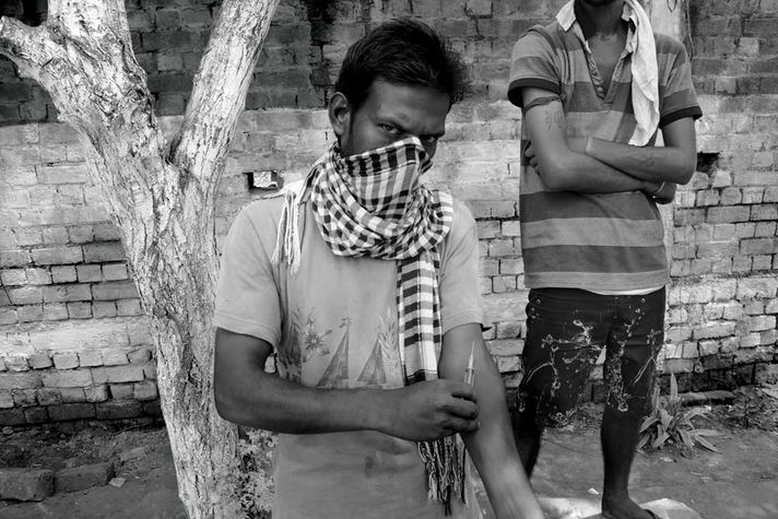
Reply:
M279 291L270 256L249 209L256 208L244 209L237 215L224 244L213 322L217 328L256 337L275 347L281 339Z

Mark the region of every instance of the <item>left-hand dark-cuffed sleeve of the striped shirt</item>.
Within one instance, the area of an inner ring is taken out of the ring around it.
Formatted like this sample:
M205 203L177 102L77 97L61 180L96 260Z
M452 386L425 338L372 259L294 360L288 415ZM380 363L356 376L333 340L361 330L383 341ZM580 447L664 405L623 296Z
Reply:
M521 107L521 89L533 86L562 94L554 48L542 27L532 27L514 46L508 78L508 101Z

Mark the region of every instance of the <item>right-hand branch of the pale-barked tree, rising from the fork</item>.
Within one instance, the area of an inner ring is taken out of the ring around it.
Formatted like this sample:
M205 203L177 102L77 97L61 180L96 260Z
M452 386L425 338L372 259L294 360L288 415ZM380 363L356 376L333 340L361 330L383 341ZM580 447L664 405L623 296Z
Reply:
M226 0L200 62L180 133L174 140L174 164L189 172L201 188L215 189L221 162L243 111L262 40L279 0ZM215 173L215 175L214 175Z

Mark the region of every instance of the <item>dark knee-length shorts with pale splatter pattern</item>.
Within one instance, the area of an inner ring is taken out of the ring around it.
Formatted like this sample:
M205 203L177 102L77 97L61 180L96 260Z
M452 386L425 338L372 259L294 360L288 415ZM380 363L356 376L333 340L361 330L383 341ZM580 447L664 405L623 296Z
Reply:
M664 288L630 296L531 290L519 412L532 405L539 424L565 425L604 349L606 405L646 415L663 340Z

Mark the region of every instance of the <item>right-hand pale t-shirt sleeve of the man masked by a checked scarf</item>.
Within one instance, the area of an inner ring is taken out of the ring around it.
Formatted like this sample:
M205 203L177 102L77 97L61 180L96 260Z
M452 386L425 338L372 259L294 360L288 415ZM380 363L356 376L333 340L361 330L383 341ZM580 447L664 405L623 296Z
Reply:
M455 201L455 222L444 251L438 287L444 333L462 325L483 325L475 220L458 201Z

